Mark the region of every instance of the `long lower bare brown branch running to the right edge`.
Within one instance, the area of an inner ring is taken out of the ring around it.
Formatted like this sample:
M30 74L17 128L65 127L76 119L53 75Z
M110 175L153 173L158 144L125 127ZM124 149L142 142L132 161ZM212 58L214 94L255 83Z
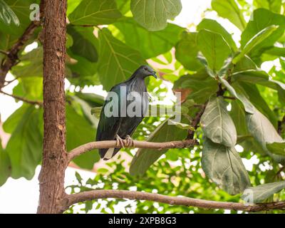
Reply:
M66 209L72 204L92 199L135 199L149 200L170 205L181 205L186 207L201 207L206 209L234 209L244 212L261 212L271 209L285 209L285 201L269 202L262 204L242 204L237 202L217 202L190 197L170 197L156 193L134 192L128 190L91 190L66 196Z

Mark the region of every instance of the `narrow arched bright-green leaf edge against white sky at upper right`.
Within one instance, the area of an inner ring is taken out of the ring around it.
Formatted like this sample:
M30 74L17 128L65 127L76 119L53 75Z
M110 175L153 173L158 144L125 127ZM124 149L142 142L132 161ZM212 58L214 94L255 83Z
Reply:
M229 43L229 46L232 48L232 51L237 51L237 45L232 39L232 35L227 32L226 29L224 29L223 26L221 26L217 21L214 21L212 19L203 19L197 26L197 31L207 29L209 31L212 31L214 33L219 33L227 43Z

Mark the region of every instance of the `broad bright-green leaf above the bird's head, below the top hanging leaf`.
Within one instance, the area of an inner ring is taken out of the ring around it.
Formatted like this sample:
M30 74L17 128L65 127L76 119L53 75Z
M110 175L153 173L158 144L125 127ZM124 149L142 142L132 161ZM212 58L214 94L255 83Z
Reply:
M184 30L175 24L167 24L161 31L147 31L131 18L119 20L114 25L123 33L125 43L140 51L145 59L170 51Z

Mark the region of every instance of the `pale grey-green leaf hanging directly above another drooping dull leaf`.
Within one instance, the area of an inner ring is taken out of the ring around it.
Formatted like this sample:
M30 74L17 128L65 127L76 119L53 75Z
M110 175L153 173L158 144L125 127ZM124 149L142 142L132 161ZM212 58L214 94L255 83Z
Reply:
M237 143L237 131L234 122L227 112L227 103L222 97L212 97L201 117L200 124L204 135L212 142L227 147Z

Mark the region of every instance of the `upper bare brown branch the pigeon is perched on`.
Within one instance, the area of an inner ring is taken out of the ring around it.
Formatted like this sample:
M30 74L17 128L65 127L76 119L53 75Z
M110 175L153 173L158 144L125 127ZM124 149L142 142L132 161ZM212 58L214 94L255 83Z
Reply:
M124 140L125 142L125 140ZM126 145L126 142L125 142ZM197 140L185 140L185 141L172 141L172 142L145 142L145 141L137 141L133 140L133 145L131 147L134 148L147 148L147 149L170 149L170 148L185 148L185 147L193 147L194 145L198 145ZM68 153L69 162L73 160L73 158L82 155L84 152L88 152L94 149L102 149L102 148L112 148L112 147L120 147L117 145L115 140L109 141L98 141L98 142L89 142L75 149L71 150Z

